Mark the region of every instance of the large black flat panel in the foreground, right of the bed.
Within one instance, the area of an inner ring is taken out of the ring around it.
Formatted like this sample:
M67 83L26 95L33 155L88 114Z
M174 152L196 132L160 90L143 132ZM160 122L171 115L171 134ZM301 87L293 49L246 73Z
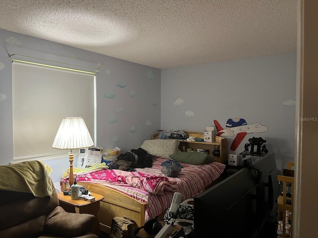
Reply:
M276 238L274 153L246 166L194 197L195 238Z

